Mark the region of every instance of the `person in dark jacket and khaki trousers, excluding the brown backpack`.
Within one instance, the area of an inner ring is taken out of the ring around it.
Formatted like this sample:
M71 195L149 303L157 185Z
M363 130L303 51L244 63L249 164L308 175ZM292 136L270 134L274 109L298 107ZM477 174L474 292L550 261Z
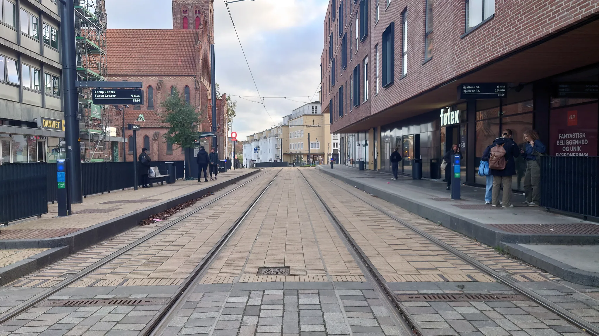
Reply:
M493 191L492 191L492 206L499 206L499 192L501 185L503 185L503 207L514 207L512 204L512 176L516 175L516 161L514 158L520 156L520 148L510 138L512 136L511 130L505 130L503 132L503 138L497 138L493 142L493 147L503 146L506 151L504 156L506 160L505 169L489 169L489 173L493 175ZM493 148L491 148L491 155Z

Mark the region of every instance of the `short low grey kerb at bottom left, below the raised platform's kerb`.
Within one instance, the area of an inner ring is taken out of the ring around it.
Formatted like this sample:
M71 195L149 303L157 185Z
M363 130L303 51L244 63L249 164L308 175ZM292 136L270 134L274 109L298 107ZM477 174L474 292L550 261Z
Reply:
M46 267L68 255L69 247L60 246L59 248L52 248L32 255L29 258L13 262L13 264L0 267L0 285L4 286L13 280Z

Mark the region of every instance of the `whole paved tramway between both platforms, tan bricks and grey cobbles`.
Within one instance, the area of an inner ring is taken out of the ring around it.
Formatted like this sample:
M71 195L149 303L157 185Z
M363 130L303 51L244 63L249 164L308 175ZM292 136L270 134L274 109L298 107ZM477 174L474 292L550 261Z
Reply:
M341 224L384 275L393 294L515 293L404 225L388 216L385 218L361 198L485 262L494 270L505 272L522 286L576 316L599 325L597 289L565 283L379 198L338 181L332 183L314 170L289 168L282 170L219 256L192 285L190 294L177 304L164 328L159 330L162 335L412 334L403 328L400 316L382 295L379 286L364 273L361 263L346 240L341 238L300 171L305 173ZM176 279L189 274L200 256L223 233L223 227L232 224L275 173L275 169L267 170L259 183L248 185L239 193L209 206L202 216L192 215L181 221L159 234L160 237L150 239L51 299L153 300L171 297L179 289L177 283L180 281ZM134 230L113 239L120 237L123 245L124 235ZM113 245L117 243L113 242ZM102 252L99 245L95 248L98 253L109 253ZM77 256L74 255L45 270L52 271L54 277L61 277L59 272L77 269L77 261L101 258L93 256L93 249L77 253L78 260L72 259ZM115 251L116 246L105 246L104 249ZM67 261L69 263L64 263ZM282 270L289 267L289 275L258 276L259 267ZM19 279L10 287L2 288L0 305L12 307L43 289L41 286L50 282L43 278L44 274L41 270L32 274L31 277L36 279ZM433 301L401 301L403 310L422 336L585 335L545 308L522 298L507 298L509 301L429 299ZM136 336L161 308L160 304L89 307L40 304L0 325L0 336Z

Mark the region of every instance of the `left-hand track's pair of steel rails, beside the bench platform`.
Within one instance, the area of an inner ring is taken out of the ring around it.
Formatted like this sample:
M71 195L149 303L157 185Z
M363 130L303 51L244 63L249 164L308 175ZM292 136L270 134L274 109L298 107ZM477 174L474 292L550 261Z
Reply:
M153 237L158 236L159 234L163 233L164 231L168 230L169 228L172 228L174 225L180 224L181 222L183 222L185 219L190 218L190 216L195 215L196 213L200 212L202 209L205 209L208 206L213 205L214 203L216 203L219 200L222 200L224 197L231 195L232 193L234 193L235 191L240 190L240 188L245 187L246 185L256 181L256 179L261 178L262 176L264 176L265 174L267 174L267 172L262 172L259 175L254 176L253 178L249 179L249 181L244 182L243 184L238 185L235 188L232 188L231 190L227 191L226 193L223 193L220 196L217 196L215 198L213 198L212 200L208 201L205 204L202 204L201 206L197 207L196 209L193 209L191 211L189 211L188 213L185 213L184 215L180 216L179 218L175 219L174 221L168 223L167 225L164 225L160 228L157 228L156 230L150 232L149 234L146 234L146 236L141 237L140 239L135 240L135 242L129 243L126 246L123 246L122 248L118 249L117 251L114 251L113 253L110 253L110 255L105 256L102 259L99 259L98 261L94 262L93 264L87 266L86 268L83 268L83 270L78 271L75 274L72 274L71 276L68 277L68 279L62 280L62 282L59 282L58 284L46 289L45 291L34 295L34 297L29 298L29 300L24 301L23 303L5 311L4 313L2 313L0 315L0 324L7 322L10 319L13 319L13 317L18 316L19 314L25 313L27 310L29 310L32 307L37 306L38 304L40 304L42 301L47 300L49 297L51 297L52 295L57 294L59 291L61 291L62 289L67 288L69 285L72 285L73 283L77 282L78 280L82 279L83 277L93 273L93 271L98 270L99 268L101 268L104 265L107 265L109 262L114 261L115 259L119 258L119 256L124 255L125 253L131 251L132 249L136 248L137 246L140 246L141 244L147 242L148 240L152 239ZM277 172L277 174L270 180L270 182L268 182L267 186L264 188L264 190L262 190L258 197L256 197L256 199L250 203L250 206L247 207L246 210L244 210L242 217L246 216L247 213L249 213L249 211L251 210L251 208L253 207L253 205L258 201L258 199L264 194L264 192L267 190L268 186L270 186L274 179L276 179L276 177L279 175L279 173ZM227 233L225 233L225 235L223 237L221 237L221 239L219 240L219 242L217 243L217 245L215 245L213 247L213 249L210 250L210 252L208 253L209 255L211 253L213 253L214 249L218 246L218 245L223 245L223 243L226 242L226 240L228 239L228 237L234 232L235 228L237 228L238 226L238 222L239 219L237 219L237 221L235 221L235 223L233 225L231 225L231 228L229 228L229 230L227 231ZM204 257L204 259L206 259L206 257ZM202 259L202 262L204 261L204 259ZM202 264L202 263L201 263ZM199 267L200 265L198 265ZM198 268L196 267L196 269ZM204 265L205 267L205 265ZM194 272L195 273L195 272ZM197 272L199 273L199 272ZM197 274L195 274L197 276ZM190 280L189 280L190 279ZM184 289L186 289L190 283L193 282L193 277L188 276L185 281L183 282L183 285L181 285L181 288L184 288L182 290L178 290L176 292L176 298L179 298L181 293L184 291ZM171 307L174 304L173 298L171 298L170 300L167 301L167 306ZM172 303L172 304L171 304ZM156 324L158 322L154 322L154 324ZM149 323L150 324L150 323ZM144 329L146 330L146 329Z

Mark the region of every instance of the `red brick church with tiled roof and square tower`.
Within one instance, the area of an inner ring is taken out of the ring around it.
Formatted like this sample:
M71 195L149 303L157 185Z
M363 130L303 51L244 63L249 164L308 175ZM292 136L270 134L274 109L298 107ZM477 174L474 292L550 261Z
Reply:
M107 59L109 81L141 81L144 105L125 108L125 125L142 127L137 132L137 151L149 150L154 161L183 160L183 149L163 138L168 125L159 115L161 103L175 88L184 99L202 111L201 129L212 129L210 99L210 44L214 43L213 0L173 0L173 29L108 29ZM115 126L122 127L122 107L111 107ZM226 96L217 97L219 154L225 158ZM127 160L133 159L132 131L128 138ZM206 145L210 139L202 139ZM122 157L122 156L121 156Z

